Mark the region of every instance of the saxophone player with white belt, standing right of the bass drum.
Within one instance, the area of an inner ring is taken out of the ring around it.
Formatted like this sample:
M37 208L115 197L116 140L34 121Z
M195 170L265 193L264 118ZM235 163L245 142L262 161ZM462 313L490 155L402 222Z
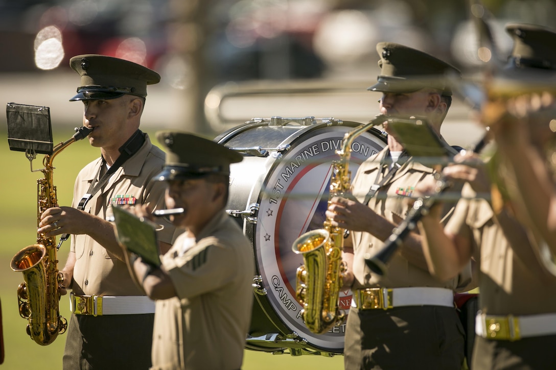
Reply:
M376 49L381 74L369 89L383 93L380 113L426 116L439 133L451 104L445 75L458 76L459 71L398 44L379 43ZM406 217L404 196L433 173L409 157L389 132L388 147L358 168L352 185L356 201L332 199L326 216L353 235L353 251L348 238L342 256L345 283L354 292L345 334L346 369L460 369L463 363L464 329L454 291L469 279L456 276L440 282L431 276L417 233L405 239L385 276L372 273L364 262L383 248Z

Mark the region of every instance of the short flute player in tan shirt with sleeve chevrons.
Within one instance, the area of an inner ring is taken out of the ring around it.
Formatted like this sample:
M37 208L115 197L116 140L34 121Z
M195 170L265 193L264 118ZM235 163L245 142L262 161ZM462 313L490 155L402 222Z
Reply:
M251 321L255 273L252 248L224 212L230 163L240 154L192 134L157 134L167 151L157 175L167 185L170 216L185 228L160 268L130 259L137 281L156 299L153 369L240 369ZM150 214L145 209L143 215Z

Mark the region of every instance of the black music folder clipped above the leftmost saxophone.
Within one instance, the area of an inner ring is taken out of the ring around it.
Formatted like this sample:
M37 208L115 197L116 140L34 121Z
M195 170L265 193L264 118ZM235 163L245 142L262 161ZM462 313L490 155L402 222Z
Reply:
M12 151L52 154L50 108L7 103L8 144Z

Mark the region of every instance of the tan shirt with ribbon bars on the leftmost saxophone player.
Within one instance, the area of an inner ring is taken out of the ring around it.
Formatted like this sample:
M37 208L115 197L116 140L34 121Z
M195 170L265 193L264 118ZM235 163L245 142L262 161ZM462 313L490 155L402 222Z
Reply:
M164 208L166 184L151 179L161 171L164 152L153 146L148 136L133 157L112 175L104 189L98 191L86 204L84 211L106 219L112 216L115 198L127 196L135 204L151 204L153 209ZM93 161L78 174L73 191L73 207L77 207L92 181L98 180L102 159ZM135 201L132 201L135 197ZM172 243L176 228L169 222L159 221L163 228L157 232L160 241ZM145 295L133 283L125 261L108 253L105 248L86 234L72 235L71 252L76 254L73 268L73 292L101 296Z

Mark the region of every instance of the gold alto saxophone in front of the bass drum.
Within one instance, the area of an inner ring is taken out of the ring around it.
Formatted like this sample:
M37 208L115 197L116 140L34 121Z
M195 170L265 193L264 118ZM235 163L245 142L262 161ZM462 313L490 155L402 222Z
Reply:
M340 159L332 163L329 203L332 197L349 192L349 161L355 138L385 121L386 116L376 116L369 123L344 135L342 147L336 152ZM302 234L291 247L292 251L303 256L304 265L296 272L296 299L303 307L301 317L313 333L325 333L344 319L338 302L345 271L341 259L343 247L344 229L332 226L328 217L322 229Z

